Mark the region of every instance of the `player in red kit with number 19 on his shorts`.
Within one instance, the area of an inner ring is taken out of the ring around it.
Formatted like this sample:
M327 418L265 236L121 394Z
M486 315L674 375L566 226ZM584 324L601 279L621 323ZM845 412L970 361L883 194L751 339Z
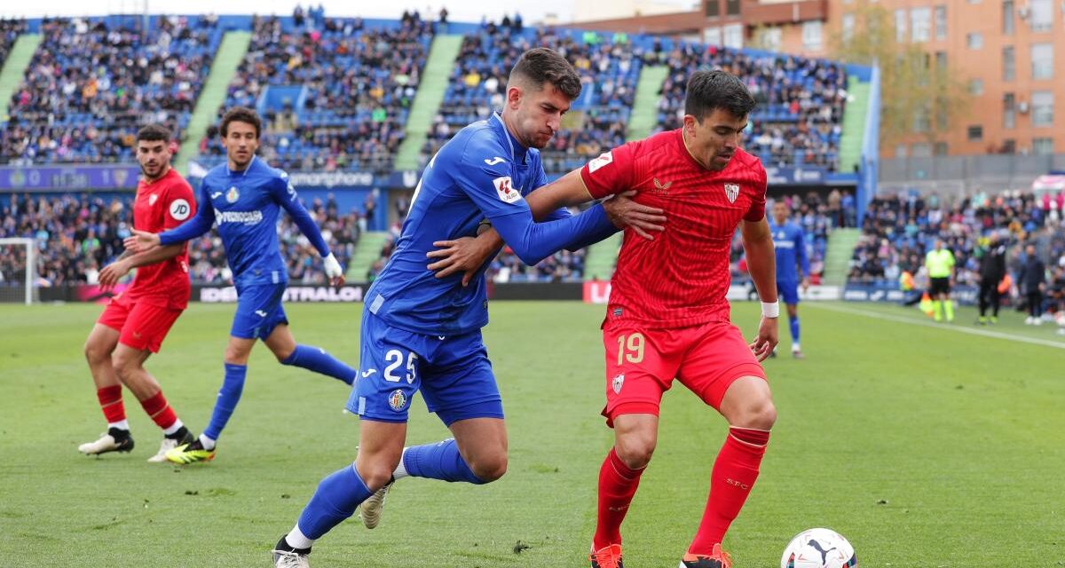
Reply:
M534 215L563 205L636 191L637 204L665 212L654 240L627 229L611 279L603 323L606 395L603 415L615 447L600 470L592 568L622 566L621 523L651 461L658 408L674 378L728 421L710 474L702 522L679 568L731 568L721 550L728 525L758 476L776 420L760 361L776 346L775 256L766 220L766 171L740 149L755 101L743 83L721 71L688 81L684 126L615 148L529 194ZM653 213L648 214L652 221ZM653 224L653 223L652 223ZM751 343L730 322L730 244L740 227L751 277L763 298ZM655 230L655 227L645 227ZM438 276L470 271L498 237L439 243ZM491 248L494 249L494 248Z

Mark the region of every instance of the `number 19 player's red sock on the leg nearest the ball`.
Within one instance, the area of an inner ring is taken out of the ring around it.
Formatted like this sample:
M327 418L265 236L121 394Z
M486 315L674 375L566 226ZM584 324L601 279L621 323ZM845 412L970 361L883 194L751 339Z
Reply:
M758 465L766 454L768 442L768 431L728 428L728 437L710 472L710 497L706 501L695 539L688 548L690 554L709 555L714 545L724 538L725 531L743 508L747 496L758 478Z

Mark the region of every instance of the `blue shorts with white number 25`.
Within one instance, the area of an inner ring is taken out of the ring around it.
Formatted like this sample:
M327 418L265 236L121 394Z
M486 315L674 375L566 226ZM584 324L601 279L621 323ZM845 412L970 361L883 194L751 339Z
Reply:
M480 331L423 336L392 327L366 310L362 314L359 375L348 411L367 420L406 422L414 393L445 425L469 418L503 418Z

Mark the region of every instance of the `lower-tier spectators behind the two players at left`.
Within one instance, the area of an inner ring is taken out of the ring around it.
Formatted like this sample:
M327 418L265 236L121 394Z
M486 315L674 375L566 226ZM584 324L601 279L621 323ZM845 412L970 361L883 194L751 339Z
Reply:
M100 197L93 194L31 197L12 194L0 202L0 238L35 241L35 275L39 286L96 283L99 271L124 250L130 236L132 195ZM364 221L358 211L343 213L330 195L308 204L322 236L342 265L355 253ZM322 259L299 228L286 216L278 223L281 256L293 282L325 283ZM192 280L230 283L222 240L213 231L189 245ZM26 266L19 247L0 247L0 283L20 283Z

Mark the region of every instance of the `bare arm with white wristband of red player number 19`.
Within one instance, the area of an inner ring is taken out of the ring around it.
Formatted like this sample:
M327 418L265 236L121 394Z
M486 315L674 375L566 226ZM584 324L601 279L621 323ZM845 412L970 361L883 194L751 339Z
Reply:
M740 225L743 250L751 279L761 298L761 324L758 337L751 343L751 350L759 361L765 360L776 346L776 322L780 304L776 301L776 253L773 250L773 233L763 214L761 221L743 221Z

